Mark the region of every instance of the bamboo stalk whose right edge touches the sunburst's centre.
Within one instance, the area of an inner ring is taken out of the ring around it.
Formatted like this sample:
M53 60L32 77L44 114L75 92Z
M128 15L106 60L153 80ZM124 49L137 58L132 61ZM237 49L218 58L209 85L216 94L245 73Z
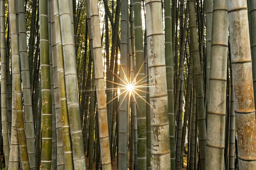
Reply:
M120 41L120 71L119 83L126 86L130 82L128 75L128 0L121 3L121 41ZM118 140L118 169L128 168L128 91L120 90L119 96L119 140Z

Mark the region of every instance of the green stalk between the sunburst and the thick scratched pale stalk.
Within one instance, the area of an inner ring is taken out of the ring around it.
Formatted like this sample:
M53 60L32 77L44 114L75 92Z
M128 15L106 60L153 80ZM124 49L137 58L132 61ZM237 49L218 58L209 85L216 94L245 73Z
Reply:
M137 168L146 170L146 76L144 68L143 30L141 16L141 1L134 0L134 31L135 31L135 57L136 57L136 102L137 102L137 141L138 161ZM136 122L135 122L136 123ZM136 125L135 125L136 126ZM136 132L135 132L136 133Z

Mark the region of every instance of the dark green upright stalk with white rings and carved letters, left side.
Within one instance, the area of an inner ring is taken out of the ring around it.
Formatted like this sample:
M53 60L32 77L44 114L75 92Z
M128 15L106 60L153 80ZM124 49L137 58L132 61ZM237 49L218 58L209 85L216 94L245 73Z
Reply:
M48 1L39 1L40 68L42 93L42 148L41 168L51 169L52 164L52 91L49 62Z

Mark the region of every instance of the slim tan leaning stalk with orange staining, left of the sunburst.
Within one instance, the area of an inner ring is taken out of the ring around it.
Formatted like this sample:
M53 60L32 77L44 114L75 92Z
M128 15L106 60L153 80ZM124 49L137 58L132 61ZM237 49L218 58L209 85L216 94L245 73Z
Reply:
M101 34L99 26L99 9L98 1L90 1L90 16L91 16L91 30L92 30L92 46L94 53L94 67L95 67L95 84L97 96L97 111L99 115L99 140L101 150L101 165L103 170L111 170L110 160L110 146L108 137L108 116L106 108L106 92L103 75L103 60L101 47Z

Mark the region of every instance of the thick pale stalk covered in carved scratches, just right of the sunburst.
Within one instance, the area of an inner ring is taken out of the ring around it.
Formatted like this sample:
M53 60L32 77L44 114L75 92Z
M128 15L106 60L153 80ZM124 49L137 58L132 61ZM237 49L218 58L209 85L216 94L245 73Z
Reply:
M162 1L146 0L152 169L171 168Z

